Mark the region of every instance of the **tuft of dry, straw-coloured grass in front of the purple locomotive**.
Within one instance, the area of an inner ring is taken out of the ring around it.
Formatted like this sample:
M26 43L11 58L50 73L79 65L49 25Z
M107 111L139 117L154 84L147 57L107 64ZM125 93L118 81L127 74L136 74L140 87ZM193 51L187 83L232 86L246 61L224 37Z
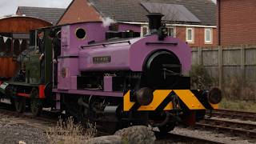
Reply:
M57 126L50 127L46 131L46 136L52 144L70 144L70 143L83 143L85 140L94 138L97 130L96 126L90 122L86 126L80 123L75 123L72 117L63 121L59 118Z

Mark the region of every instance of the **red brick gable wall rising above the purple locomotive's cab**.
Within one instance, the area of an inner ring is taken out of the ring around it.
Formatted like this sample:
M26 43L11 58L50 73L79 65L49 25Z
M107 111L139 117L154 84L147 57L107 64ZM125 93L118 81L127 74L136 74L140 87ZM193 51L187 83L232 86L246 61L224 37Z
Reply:
M100 15L87 0L75 0L67 8L66 13L59 20L57 25L74 22L101 21Z

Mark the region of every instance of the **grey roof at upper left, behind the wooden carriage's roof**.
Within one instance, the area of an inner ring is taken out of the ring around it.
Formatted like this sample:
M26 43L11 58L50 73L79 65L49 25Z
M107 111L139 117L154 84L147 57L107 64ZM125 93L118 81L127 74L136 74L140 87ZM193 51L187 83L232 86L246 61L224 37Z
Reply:
M58 19L61 18L66 9L60 8L45 8L45 7L27 7L27 6L18 6L17 14L34 18L40 18L47 22L56 25Z

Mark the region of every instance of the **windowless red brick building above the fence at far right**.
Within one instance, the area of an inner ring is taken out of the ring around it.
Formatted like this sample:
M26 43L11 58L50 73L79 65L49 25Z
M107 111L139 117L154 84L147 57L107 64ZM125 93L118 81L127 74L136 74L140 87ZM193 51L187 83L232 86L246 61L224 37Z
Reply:
M256 44L255 0L218 0L218 45Z

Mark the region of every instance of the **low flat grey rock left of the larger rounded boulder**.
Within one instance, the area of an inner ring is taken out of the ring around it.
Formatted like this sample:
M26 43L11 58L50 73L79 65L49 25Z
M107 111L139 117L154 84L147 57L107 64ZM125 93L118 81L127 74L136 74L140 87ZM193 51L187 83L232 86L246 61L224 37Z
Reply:
M86 144L122 144L122 138L118 135L109 135L91 138Z

